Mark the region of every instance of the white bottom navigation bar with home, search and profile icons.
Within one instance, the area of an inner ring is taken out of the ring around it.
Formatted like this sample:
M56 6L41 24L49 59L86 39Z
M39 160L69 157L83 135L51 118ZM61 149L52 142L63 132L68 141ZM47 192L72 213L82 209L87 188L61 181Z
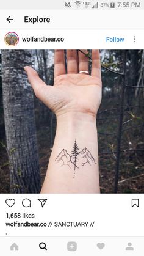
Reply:
M3 256L13 255L13 251L18 251L19 256L39 252L40 255L74 255L86 256L110 255L125 256L143 255L144 237L0 237L1 252ZM14 253L15 254L15 253Z

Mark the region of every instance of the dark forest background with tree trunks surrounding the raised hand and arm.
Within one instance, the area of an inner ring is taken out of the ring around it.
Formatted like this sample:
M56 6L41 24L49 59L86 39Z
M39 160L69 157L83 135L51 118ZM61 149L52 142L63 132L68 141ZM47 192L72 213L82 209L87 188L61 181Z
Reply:
M91 51L87 57L91 67ZM24 65L52 86L54 51L0 51L1 193L40 192L56 133L56 117L35 97ZM101 192L143 193L144 51L101 50L101 74L96 121Z

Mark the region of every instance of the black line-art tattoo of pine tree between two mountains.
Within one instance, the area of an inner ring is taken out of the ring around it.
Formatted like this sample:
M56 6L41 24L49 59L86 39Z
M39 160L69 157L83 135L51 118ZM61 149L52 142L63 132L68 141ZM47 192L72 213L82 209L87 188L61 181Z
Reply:
M55 159L55 161L56 163L59 163L60 166L67 165L71 170L73 170L73 178L75 177L76 169L79 169L79 167L85 166L87 164L89 164L90 166L96 164L95 159L86 147L79 151L76 139L74 141L71 155L67 152L67 150L63 148L57 156L57 158Z

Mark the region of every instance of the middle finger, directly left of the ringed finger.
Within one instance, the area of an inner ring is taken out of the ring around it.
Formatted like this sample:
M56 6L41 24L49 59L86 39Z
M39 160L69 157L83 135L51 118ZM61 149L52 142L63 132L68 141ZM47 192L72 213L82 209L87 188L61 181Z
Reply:
M67 50L67 70L68 74L78 73L78 56L76 50Z

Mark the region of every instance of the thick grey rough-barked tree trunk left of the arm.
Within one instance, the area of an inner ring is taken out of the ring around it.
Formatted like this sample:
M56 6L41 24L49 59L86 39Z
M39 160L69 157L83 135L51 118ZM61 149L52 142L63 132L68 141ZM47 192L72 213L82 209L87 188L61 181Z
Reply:
M2 93L12 193L40 192L34 98L24 72L24 66L31 64L31 51L2 51Z

